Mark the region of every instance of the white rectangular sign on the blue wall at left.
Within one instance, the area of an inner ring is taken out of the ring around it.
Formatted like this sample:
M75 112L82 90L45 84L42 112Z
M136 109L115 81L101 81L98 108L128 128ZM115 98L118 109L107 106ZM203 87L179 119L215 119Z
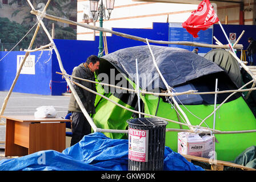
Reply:
M25 55L17 55L17 72ZM21 74L35 75L35 55L27 56L25 63L21 69Z

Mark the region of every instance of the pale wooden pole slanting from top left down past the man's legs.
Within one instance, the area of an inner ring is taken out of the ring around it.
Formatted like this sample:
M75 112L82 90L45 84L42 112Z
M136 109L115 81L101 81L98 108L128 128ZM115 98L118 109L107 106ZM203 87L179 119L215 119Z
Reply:
M30 1L30 0L27 0L27 1ZM31 9L34 10L34 7L33 7L33 5L31 5L31 3L30 3L30 6L31 6ZM38 16L37 16L37 18L38 18ZM61 72L66 74L66 71L63 68L63 64L62 64L62 61L61 61L61 56L59 55L59 51L58 51L58 49L57 49L57 47L56 47L56 45L55 45L55 43L53 41L53 38L51 38L51 35L50 35L49 31L47 30L47 28L45 27L45 24L43 23L42 19L38 18L38 20L41 23L42 28L45 31L47 37L49 38L51 44L53 44L53 49L54 49L54 51L56 53L58 64L59 64L59 68L61 69ZM69 88L71 89L71 92L73 93L73 95L75 97L75 100L77 101L77 104L79 105L80 109L82 110L82 113L85 115L85 117L86 117L87 121L89 122L89 124L91 125L92 129L94 131L96 131L97 130L97 126L94 124L94 122L91 119L90 115L87 113L85 107L83 106L83 104L82 104L82 102L81 102L77 92L75 91L73 85L71 84L70 80L67 79L66 77L64 77L64 78L65 78L67 84L69 85Z

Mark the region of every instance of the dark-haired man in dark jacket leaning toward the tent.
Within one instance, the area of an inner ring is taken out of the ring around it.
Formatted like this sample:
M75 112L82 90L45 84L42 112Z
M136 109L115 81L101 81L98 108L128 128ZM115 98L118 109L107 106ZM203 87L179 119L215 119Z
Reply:
M78 67L73 69L72 76L95 81L94 72L97 69L99 69L99 57L91 55L87 58L86 63L81 63L78 65ZM82 81L75 78L73 78L73 81L96 91L96 86L92 82ZM81 88L78 85L74 85L74 88L87 113L95 114L95 94ZM77 104L73 93L71 93L69 101L69 111L72 112L72 137L70 146L73 146L75 143L78 143L83 136L91 133L91 126L85 115L82 113L81 108Z

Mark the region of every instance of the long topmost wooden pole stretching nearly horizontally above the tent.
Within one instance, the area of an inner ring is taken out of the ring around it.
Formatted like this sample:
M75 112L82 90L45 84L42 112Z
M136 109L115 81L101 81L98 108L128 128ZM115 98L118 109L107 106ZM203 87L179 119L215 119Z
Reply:
M96 30L96 31L109 32L110 34L114 34L114 35L117 35L117 36L122 36L123 38L138 40L138 41L146 43L145 38L140 38L138 36L133 36L133 35L129 35L129 34L123 34L121 32L117 32L117 31L111 31L107 28L91 26L90 24L78 23L78 22L74 22L72 20L68 20L68 19L65 19L65 18L59 18L57 16L53 16L53 15L49 15L49 14L42 14L41 11L38 11L38 10L37 11L36 10L31 10L30 13L34 14L34 15L41 15L41 16L47 18L47 19L55 20L55 21L58 21L58 22L74 24L74 25L77 25L77 26L81 26L81 27L84 27L84 28L89 28L91 30ZM150 40L150 39L148 39L148 41L150 43L157 43L157 44L178 44L178 45L194 46L194 47L225 48L225 49L229 48L228 44L220 46L220 45L213 45L213 44L187 42L187 41L169 42L169 41ZM243 49L243 45L242 44L237 44L234 48L235 49Z

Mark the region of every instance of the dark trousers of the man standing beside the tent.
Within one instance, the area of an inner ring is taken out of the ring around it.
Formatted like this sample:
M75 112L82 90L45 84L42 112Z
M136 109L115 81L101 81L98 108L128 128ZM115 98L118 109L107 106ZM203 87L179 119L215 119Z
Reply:
M79 112L72 112L72 138L70 146L78 143L83 136L91 133L91 126L85 115Z

